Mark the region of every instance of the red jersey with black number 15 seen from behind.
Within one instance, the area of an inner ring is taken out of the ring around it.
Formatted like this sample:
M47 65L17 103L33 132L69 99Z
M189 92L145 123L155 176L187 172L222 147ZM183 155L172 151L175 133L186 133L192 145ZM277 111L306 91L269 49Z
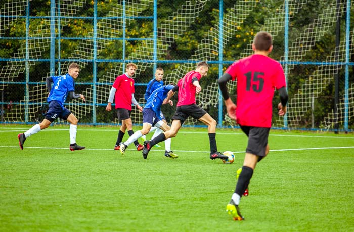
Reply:
M232 80L237 78L237 123L270 128L274 90L286 86L280 63L254 54L234 62L226 72Z

